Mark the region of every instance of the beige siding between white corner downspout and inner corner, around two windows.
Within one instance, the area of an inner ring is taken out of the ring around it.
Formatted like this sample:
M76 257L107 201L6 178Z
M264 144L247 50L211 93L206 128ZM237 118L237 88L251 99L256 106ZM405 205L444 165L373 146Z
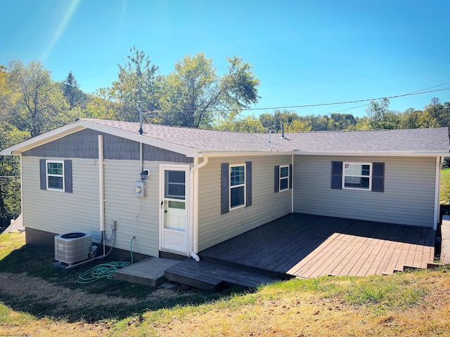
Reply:
M210 159L198 178L198 250L291 213L292 190L274 192L274 166L291 164L291 160L292 156ZM221 163L245 161L252 161L252 205L221 214Z

